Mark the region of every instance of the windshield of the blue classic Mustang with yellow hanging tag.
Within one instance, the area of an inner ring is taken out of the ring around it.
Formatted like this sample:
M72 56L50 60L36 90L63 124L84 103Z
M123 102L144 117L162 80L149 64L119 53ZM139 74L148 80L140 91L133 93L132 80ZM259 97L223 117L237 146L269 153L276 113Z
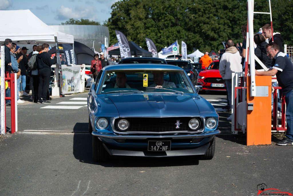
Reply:
M98 93L194 93L188 80L184 71L111 70Z

